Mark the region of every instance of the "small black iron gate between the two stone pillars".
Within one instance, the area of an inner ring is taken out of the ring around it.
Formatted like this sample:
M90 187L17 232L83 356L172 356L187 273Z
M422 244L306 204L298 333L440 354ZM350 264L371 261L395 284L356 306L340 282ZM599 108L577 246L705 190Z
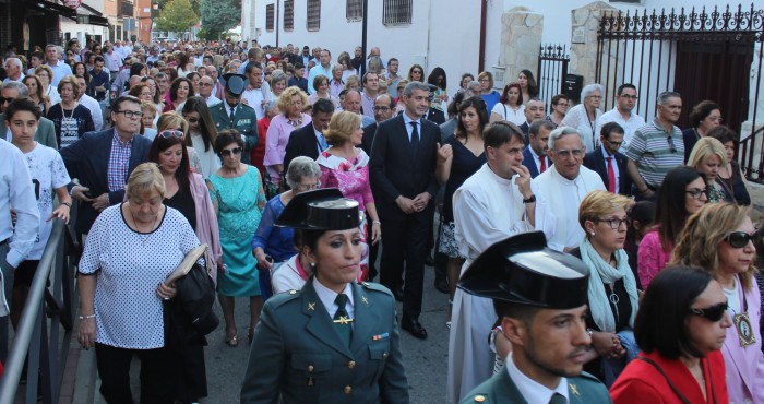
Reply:
M564 93L565 74L571 57L565 45L541 45L538 54L538 97L544 100L546 111L551 114L553 96Z

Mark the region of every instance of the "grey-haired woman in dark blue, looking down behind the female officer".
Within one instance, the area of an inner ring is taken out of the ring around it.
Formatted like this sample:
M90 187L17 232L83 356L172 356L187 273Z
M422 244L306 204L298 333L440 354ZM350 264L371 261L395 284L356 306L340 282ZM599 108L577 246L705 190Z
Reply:
M252 253L258 260L260 290L263 294L263 300L267 300L271 296L271 289L273 293L278 293L289 288L301 288L295 287L294 282L286 280L289 277L287 273L294 274L294 271L283 273L280 276L283 280L278 281L278 284L275 283L275 280L271 282L271 276L283 264L293 270L300 266L299 259L295 258L298 252L295 250L295 230L289 227L275 226L275 223L295 195L321 187L321 169L312 158L298 156L289 163L285 180L289 190L267 201L258 231L252 238ZM286 284L293 286L287 288Z

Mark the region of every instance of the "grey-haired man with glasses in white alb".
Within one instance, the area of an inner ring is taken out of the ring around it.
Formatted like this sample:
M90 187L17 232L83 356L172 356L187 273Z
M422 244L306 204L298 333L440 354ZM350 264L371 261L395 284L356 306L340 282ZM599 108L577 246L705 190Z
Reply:
M586 147L575 128L558 128L549 134L549 158L552 168L530 182L536 198L549 209L549 214L536 221L536 228L547 236L549 248L568 252L584 239L578 224L581 201L594 190L604 190L599 175L582 164ZM551 221L551 223L547 223ZM547 233L545 228L552 228Z

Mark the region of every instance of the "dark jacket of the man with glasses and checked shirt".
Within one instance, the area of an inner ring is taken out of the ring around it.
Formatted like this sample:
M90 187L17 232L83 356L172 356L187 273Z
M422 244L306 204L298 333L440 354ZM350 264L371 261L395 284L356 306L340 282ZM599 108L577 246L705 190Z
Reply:
M109 204L116 205L124 200L124 191L109 191L108 171L112 136L114 129L87 132L69 147L61 148L60 153L72 179L79 178L80 183L89 188L89 193L94 197L108 193ZM141 135L133 138L128 176L139 164L146 162L151 146L152 142L148 139ZM128 178L124 178L124 182L128 182ZM76 231L88 233L98 214L92 204L81 203L75 224Z

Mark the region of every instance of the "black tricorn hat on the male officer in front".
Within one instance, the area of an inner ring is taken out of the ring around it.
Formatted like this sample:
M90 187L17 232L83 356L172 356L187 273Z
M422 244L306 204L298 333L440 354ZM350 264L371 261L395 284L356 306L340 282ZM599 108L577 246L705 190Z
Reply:
M580 259L547 247L541 231L499 241L465 271L468 294L517 305L574 309L587 301L589 270Z

